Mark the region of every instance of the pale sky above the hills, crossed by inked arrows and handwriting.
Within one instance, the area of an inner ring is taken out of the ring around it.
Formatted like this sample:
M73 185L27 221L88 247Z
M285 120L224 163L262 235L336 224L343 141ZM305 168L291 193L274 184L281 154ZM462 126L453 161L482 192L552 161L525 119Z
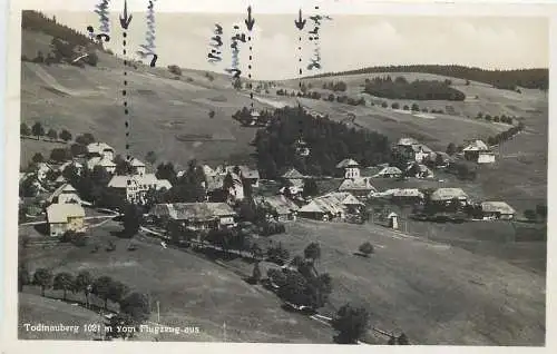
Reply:
M99 17L90 12L46 12L57 21L86 32L88 24L99 28ZM135 12L128 29L128 55L146 43L146 13ZM232 63L231 36L246 14L155 13L157 66L224 72ZM278 80L297 77L299 57L303 75L344 71L390 65L463 65L485 69L547 68L549 66L549 22L532 17L424 17L336 14L323 21L319 47L322 69L306 70L314 42L307 40L311 21L302 33L294 26L297 13L257 14L252 31L252 77ZM223 61L207 61L214 24L224 29ZM111 40L107 43L121 55L123 36L118 13L110 16ZM248 46L240 47L240 68L247 73ZM138 59L138 57L135 57ZM149 60L146 60L149 61Z

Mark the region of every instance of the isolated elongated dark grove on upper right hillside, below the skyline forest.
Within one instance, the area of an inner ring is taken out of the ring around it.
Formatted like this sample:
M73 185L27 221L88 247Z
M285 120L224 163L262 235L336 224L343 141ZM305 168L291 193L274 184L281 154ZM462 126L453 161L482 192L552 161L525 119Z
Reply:
M446 81L414 80L408 82L403 77L397 77L393 80L390 76L367 79L364 91L390 99L462 101L466 98L465 94L453 89Z

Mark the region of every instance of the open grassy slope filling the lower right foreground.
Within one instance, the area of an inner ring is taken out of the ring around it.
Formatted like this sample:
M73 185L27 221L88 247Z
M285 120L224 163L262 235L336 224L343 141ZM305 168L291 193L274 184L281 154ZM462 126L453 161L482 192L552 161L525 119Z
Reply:
M325 313L363 304L373 326L420 344L544 343L545 278L505 260L374 225L301 220L273 239L292 255L320 243L317 268L333 277ZM370 258L353 255L364 242L375 246Z

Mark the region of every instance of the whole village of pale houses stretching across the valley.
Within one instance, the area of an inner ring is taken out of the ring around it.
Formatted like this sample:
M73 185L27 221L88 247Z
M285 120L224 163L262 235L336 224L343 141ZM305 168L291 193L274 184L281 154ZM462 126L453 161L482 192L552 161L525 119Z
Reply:
M150 203L150 209L145 214L146 219L164 225L168 222L178 223L194 229L219 229L238 225L240 213L237 206L246 198L257 206L264 206L266 220L295 222L297 217L321 222L363 223L369 218L370 205L373 200L390 200L392 204L411 205L424 209L433 209L434 214L456 215L465 214L470 219L512 219L515 209L504 200L472 200L460 188L437 188L420 190L419 188L390 188L379 190L374 180L390 178L404 180L408 178L434 180L437 169L446 169L456 159L466 159L477 164L495 161L495 153L481 140L473 140L462 149L461 154L449 156L444 151L433 151L428 146L413 138L401 138L394 147L408 159L408 166L401 169L395 166L362 167L351 158L339 161L340 181L336 189L326 190L321 195L309 195L309 189L316 189L316 180L324 177L304 176L295 168L282 174L281 180L262 180L260 173L248 166L218 166L212 168L202 165L205 180L201 188L206 198L199 203L156 204ZM300 154L310 154L304 147ZM46 213L48 236L62 236L66 232L81 233L86 230L86 209L94 205L82 198L77 189L65 178L65 171L75 169L79 176L85 168L89 171L102 169L110 179L105 186L110 194L120 196L129 204L146 206L150 191L170 190L172 184L167 179L158 179L154 173L147 171L146 164L137 158L129 160L129 168L125 174L116 173L115 150L104 142L91 142L87 146L87 154L59 164L33 164L28 173L21 173L21 183L30 183L38 196L45 196L31 209L36 214ZM429 166L429 167L428 167ZM430 168L431 167L431 168ZM178 171L177 177L184 177L187 171ZM325 177L326 178L326 177ZM332 176L329 178L333 178ZM245 186L248 184L251 196L246 196ZM275 194L258 193L265 186L277 186ZM252 191L253 190L253 191ZM222 197L224 194L224 198ZM218 196L222 201L213 201ZM22 199L20 199L22 204ZM116 205L105 205L106 208L116 208ZM26 208L29 210L29 208ZM177 213L176 210L180 210ZM479 213L478 213L479 210ZM37 213L39 212L39 213ZM119 210L121 212L121 210ZM465 213L466 212L466 213ZM382 217L393 229L399 228L398 215L383 210ZM431 214L431 213L430 213Z

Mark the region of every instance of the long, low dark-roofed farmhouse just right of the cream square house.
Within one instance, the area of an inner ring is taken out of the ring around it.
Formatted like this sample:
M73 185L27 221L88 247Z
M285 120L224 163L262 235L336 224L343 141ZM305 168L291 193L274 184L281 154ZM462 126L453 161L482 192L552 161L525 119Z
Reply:
M178 226L189 230L231 228L237 216L226 203L157 204L149 214L165 226Z

